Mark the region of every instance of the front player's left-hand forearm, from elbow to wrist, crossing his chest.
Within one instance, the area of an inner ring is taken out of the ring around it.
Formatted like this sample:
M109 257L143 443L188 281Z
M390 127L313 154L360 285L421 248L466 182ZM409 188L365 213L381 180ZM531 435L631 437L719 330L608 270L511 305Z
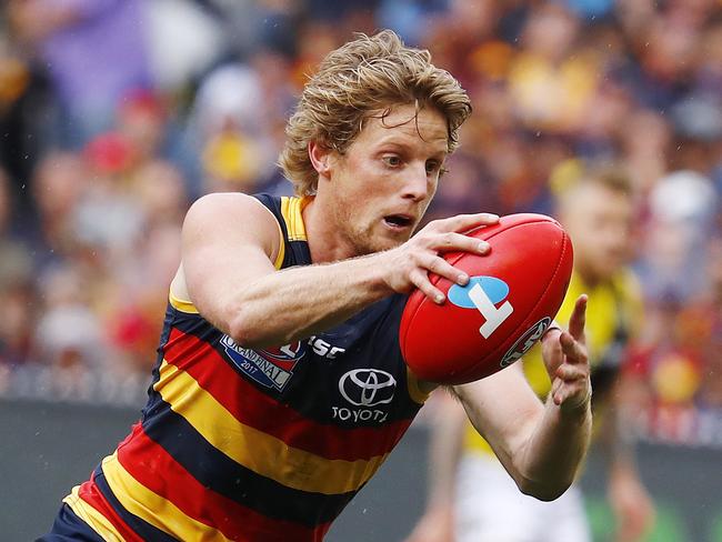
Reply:
M288 344L342 322L393 293L382 254L272 272L229 301L219 327L240 344Z

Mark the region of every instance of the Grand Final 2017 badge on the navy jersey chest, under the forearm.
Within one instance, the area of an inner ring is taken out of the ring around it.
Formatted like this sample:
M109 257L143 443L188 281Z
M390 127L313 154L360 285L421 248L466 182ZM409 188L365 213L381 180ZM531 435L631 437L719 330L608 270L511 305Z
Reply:
M265 388L283 391L293 375L293 368L305 355L300 341L278 348L251 350L242 348L229 335L221 338L225 353L243 373Z

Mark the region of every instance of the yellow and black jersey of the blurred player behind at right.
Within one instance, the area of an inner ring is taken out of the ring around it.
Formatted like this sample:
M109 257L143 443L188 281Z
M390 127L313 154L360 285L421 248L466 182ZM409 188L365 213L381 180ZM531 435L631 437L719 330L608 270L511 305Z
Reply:
M556 321L566 325L574 310L576 298L589 295L586 310L586 347L591 365L591 381L594 394L592 408L598 414L603 410L608 392L619 374L623 354L631 337L639 330L642 319L642 302L636 279L629 271L618 273L610 282L589 288L579 273L573 272L569 290ZM551 381L537 344L522 359L524 375L534 392L543 400L551 389ZM594 434L599 423L594 423ZM469 425L465 448L470 451L492 454L491 446Z

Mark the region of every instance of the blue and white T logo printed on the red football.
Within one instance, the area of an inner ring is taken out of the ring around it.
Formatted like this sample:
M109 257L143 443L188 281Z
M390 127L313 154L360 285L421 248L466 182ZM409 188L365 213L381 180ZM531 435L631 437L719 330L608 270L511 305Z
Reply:
M484 318L479 328L484 339L489 339L514 312L511 303L504 301L508 295L509 284L495 277L472 277L465 287L454 284L449 289L449 301L462 309L477 309Z

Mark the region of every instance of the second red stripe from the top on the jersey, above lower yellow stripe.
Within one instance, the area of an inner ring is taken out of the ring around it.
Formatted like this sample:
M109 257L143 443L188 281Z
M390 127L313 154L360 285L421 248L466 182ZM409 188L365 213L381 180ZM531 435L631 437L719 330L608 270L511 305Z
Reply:
M320 541L330 523L315 529L267 518L204 488L162 446L133 426L118 449L120 464L142 485L172 502L185 515L217 529L231 540ZM159 475L162 473L162 475Z

